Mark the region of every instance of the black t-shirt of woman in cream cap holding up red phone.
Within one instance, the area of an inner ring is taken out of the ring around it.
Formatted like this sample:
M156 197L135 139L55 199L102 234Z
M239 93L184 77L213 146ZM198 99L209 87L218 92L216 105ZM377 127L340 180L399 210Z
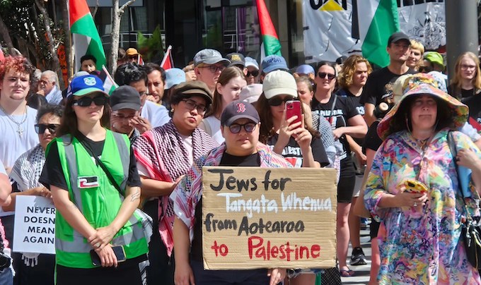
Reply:
M277 143L277 139L279 138L279 135L276 133L272 138L267 140L267 145L271 149L274 148L274 145ZM313 138L311 141L311 149L313 152L313 157L316 162L319 162L321 167L328 166L329 165L329 159L328 159L328 154L325 154L325 149L323 146L323 142L320 140L320 138ZM302 153L301 153L301 147L299 147L299 144L296 142L296 139L294 138L289 138L289 142L287 142L287 145L284 147L284 150L282 150L282 156L294 167L301 167L302 166Z

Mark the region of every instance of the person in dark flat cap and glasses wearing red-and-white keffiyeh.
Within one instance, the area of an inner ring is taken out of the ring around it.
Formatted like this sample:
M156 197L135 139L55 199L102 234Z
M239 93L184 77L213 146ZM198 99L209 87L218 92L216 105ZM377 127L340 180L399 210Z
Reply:
M154 223L149 243L148 284L174 284L173 202L168 198L195 159L219 144L198 128L212 102L205 83L180 83L170 98L172 119L141 135L133 144L142 181L144 211Z

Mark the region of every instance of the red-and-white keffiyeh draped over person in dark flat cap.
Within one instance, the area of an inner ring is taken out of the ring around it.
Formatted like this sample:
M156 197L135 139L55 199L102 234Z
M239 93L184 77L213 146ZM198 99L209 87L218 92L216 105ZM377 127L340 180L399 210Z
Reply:
M199 128L192 132L194 161L216 146L217 142ZM152 179L174 182L187 174L192 166L188 158L192 154L187 153L182 137L172 120L141 135L135 140L133 148L137 163L145 167ZM173 202L165 195L160 197L158 207L158 228L170 256L173 249L172 229L175 217Z

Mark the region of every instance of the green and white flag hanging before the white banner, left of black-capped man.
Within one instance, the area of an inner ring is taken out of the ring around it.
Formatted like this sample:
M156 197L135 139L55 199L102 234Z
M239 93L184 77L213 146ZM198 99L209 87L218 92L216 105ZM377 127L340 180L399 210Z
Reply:
M362 55L378 66L388 66L388 39L400 30L398 1L371 0L369 5L357 5L357 11L361 15L359 36L363 42Z

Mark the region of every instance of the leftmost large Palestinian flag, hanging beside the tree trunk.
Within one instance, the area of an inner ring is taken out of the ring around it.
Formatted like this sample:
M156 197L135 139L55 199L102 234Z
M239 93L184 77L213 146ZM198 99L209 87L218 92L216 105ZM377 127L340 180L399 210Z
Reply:
M74 40L75 70L81 67L80 59L86 54L95 56L97 66L105 66L105 52L98 30L86 0L69 0L70 30Z

